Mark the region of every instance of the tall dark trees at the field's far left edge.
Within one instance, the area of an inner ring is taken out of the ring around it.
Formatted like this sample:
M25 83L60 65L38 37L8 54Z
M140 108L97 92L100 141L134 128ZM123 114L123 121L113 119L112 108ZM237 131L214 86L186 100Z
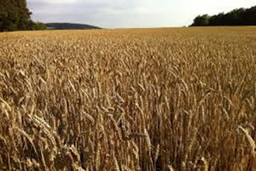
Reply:
M0 31L46 30L42 22L31 20L26 0L0 0Z

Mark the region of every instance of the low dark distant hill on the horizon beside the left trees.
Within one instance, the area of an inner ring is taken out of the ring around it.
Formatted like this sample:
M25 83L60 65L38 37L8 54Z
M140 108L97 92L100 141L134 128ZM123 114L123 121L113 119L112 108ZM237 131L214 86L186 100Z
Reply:
M50 22L45 24L48 30L91 30L102 29L98 26L90 26L86 24L75 24L67 22Z

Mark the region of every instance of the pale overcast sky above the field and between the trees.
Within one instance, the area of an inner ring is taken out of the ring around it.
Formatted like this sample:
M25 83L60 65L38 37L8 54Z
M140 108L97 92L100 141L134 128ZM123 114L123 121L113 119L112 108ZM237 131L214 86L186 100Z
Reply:
M198 14L256 6L255 0L27 0L40 22L74 22L102 28L189 26Z

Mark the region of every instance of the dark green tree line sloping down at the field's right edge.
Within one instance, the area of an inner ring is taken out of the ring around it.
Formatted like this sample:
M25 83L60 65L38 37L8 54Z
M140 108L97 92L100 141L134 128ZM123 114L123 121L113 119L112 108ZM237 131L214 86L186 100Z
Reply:
M226 14L198 15L191 26L256 26L256 6L231 10Z

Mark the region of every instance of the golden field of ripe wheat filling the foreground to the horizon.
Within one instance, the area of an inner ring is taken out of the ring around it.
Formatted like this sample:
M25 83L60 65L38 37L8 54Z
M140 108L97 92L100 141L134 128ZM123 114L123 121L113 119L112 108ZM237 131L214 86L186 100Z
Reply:
M256 170L256 27L0 34L0 170Z

